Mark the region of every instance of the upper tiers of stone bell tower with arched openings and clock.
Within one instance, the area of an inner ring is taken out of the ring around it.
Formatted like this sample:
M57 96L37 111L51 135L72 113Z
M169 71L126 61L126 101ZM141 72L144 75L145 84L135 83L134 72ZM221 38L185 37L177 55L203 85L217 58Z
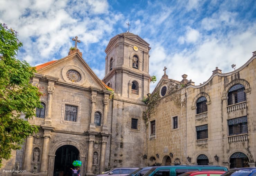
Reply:
M149 44L130 32L110 39L105 50L105 77L103 82L122 97L142 100L149 93L151 77Z

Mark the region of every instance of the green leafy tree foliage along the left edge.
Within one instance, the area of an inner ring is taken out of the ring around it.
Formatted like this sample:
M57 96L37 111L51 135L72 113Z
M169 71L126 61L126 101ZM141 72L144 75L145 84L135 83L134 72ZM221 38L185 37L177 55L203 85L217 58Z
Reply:
M11 149L20 149L24 139L38 132L26 120L41 107L38 87L29 83L36 72L26 61L16 59L22 43L17 32L0 23L0 167L11 157ZM25 114L25 120L21 119Z

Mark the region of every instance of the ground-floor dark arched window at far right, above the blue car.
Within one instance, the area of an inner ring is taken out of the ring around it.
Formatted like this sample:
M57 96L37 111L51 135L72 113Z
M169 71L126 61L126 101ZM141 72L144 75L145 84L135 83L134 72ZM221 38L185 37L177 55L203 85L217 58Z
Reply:
M249 158L242 152L236 152L230 156L230 169L239 167L249 167Z

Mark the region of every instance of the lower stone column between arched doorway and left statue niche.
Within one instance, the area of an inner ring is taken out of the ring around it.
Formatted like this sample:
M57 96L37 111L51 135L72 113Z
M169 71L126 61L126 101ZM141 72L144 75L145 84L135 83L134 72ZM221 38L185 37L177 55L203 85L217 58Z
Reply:
M44 128L44 127L43 127ZM48 156L49 156L49 141L51 138L51 130L49 128L44 129L44 140L41 157L40 173L47 173L48 167Z

